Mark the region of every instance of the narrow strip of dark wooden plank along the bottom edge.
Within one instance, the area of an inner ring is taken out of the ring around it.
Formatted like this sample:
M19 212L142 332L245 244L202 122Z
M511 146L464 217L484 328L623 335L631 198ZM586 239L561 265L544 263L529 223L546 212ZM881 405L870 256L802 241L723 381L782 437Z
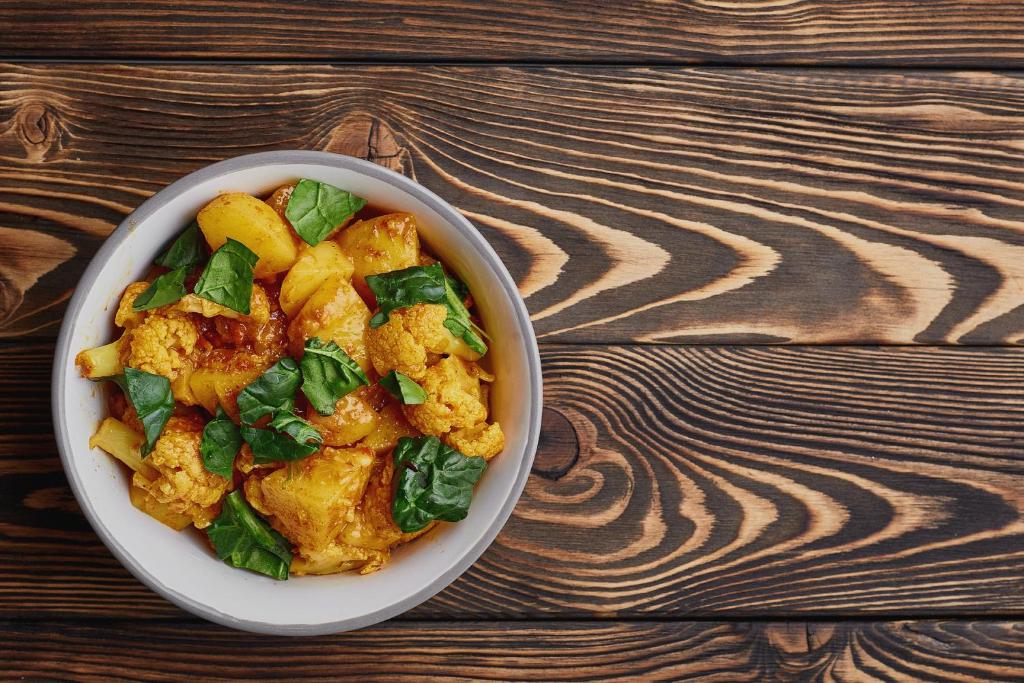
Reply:
M391 623L300 639L198 622L0 623L0 660L11 678L102 683L1019 681L1024 624Z

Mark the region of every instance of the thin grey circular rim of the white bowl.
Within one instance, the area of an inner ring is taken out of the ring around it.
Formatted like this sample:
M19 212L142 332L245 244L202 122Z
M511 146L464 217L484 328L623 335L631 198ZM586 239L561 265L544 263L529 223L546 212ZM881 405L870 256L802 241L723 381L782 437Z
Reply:
M128 236L139 225L145 222L150 216L165 204L176 199L181 193L189 189L194 185L217 177L233 173L236 171L248 170L259 166L273 166L279 164L313 164L342 168L369 175L375 179L395 185L420 200L432 210L437 212L444 220L451 223L461 234L462 239L468 241L478 254L480 254L487 265L497 275L501 283L504 295L508 297L513 306L515 324L526 344L526 358L529 375L529 421L527 425L526 447L520 459L519 469L516 472L515 480L509 489L504 503L499 509L498 515L489 522L478 540L470 547L454 554L453 561L446 570L438 574L432 581L423 586L419 591L413 593L403 600L399 600L391 605L387 605L360 616L353 616L338 620L336 622L324 622L321 624L267 624L255 620L245 620L225 614L206 604L183 595L173 589L168 588L146 570L141 562L137 561L118 540L111 533L103 524L102 519L96 513L89 498L86 496L83 482L80 480L76 470L72 467L72 442L71 434L67 422L61 416L61 407L65 403L65 387L68 380L68 356L73 349L71 339L82 308L85 304L86 296L95 284L95 281L106 265L113 253L123 243ZM145 200L132 213L125 217L118 227L111 232L96 254L89 261L88 266L82 273L81 279L75 287L75 292L68 304L65 312L60 332L57 336L56 348L53 355L53 372L51 376L51 399L50 411L53 418L53 428L56 435L57 450L60 454L60 463L65 474L71 483L75 499L85 513L86 519L93 530L103 542L103 545L114 554L121 564L128 569L135 579L147 586L158 595L163 596L173 604L182 609L205 620L226 626L232 629L249 631L267 635L326 635L360 629L378 624L385 620L396 616L416 605L425 602L435 594L447 587L453 581L466 571L494 542L495 538L505 526L515 504L526 484L532 467L534 457L537 453L540 440L541 415L543 410L541 357L537 345L537 337L534 327L530 324L529 313L526 305L519 294L512 275L509 273L501 258L494 248L484 240L483 236L465 218L458 210L440 197L412 180L404 175L378 166L372 162L338 155L330 152L313 152L305 150L285 150L274 152L260 152L256 154L233 157L224 161L216 162L204 168L175 180L163 189L159 190L150 199Z

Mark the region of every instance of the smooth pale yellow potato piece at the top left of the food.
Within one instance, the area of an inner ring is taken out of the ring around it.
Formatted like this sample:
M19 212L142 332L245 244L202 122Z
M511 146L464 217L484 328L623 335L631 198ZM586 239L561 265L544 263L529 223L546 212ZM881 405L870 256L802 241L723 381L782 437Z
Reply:
M196 218L211 249L219 249L231 238L253 250L259 256L257 279L288 270L299 256L292 229L268 204L251 195L221 195Z

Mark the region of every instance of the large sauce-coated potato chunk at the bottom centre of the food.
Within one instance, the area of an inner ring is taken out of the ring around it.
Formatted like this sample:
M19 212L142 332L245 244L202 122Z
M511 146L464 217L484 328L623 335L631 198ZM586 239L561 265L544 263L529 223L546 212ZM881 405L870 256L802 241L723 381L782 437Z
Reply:
M332 449L262 478L246 479L246 498L300 553L326 550L355 518L373 469L369 449Z

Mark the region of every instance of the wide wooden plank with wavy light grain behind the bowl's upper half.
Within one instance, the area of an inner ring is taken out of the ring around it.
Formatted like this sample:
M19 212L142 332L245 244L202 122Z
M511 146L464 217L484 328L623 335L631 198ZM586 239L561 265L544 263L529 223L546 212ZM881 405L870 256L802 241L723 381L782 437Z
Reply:
M1024 79L0 67L0 334L206 164L371 157L492 241L546 341L1019 343Z

